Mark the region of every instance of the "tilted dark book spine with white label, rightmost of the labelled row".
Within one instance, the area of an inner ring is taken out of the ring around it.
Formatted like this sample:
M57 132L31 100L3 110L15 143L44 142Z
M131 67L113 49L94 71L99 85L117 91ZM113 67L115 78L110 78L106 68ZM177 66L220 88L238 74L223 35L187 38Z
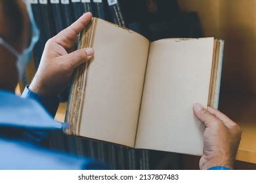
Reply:
M125 24L125 18L123 12L121 11L120 0L108 0L108 7L112 20L114 24L120 25L122 27L127 27Z

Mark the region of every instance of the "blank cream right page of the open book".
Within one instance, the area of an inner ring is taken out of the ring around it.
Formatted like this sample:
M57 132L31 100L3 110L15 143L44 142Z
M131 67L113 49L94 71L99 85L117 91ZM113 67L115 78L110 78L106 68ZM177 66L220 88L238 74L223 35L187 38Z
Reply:
M192 107L207 107L213 42L163 39L150 44L136 148L202 155L204 127Z

